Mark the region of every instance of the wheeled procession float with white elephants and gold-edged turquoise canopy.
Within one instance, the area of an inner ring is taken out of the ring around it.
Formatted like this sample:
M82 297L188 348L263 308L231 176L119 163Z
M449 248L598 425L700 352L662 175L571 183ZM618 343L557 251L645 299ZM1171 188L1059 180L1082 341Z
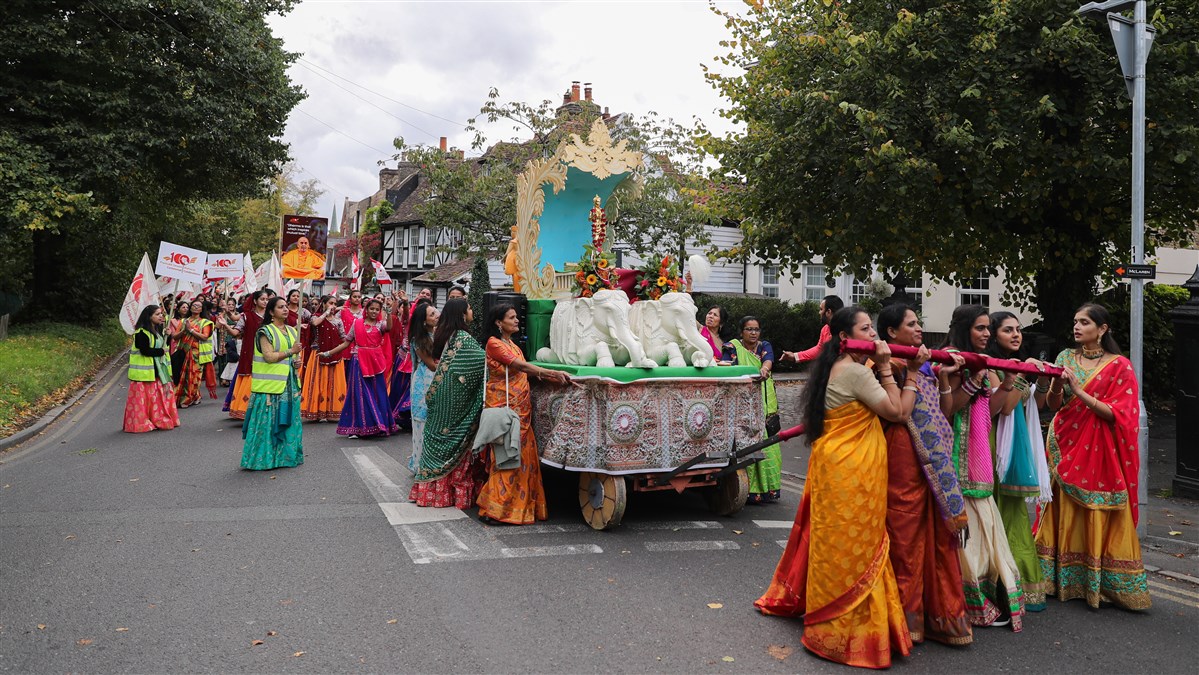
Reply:
M643 164L603 120L530 161L505 259L526 357L573 379L534 385L541 462L578 474L597 530L620 524L629 490L699 489L716 513L740 511L764 446L758 370L717 364L681 261L616 269L605 206L638 195Z

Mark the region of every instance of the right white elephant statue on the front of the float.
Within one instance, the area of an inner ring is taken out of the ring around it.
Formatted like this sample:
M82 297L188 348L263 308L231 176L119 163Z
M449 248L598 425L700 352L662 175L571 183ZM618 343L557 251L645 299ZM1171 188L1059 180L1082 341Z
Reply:
M695 327L695 301L688 293L668 293L643 300L628 314L645 355L659 366L707 368L716 364L712 348Z

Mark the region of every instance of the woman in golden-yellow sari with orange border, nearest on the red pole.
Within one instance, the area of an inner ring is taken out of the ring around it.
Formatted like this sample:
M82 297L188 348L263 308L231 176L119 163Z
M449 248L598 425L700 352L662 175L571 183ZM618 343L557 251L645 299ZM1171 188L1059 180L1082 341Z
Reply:
M803 646L860 668L888 668L891 652L908 655L911 637L888 558L887 444L879 417L899 422L916 400L909 373L891 376L891 350L875 340L874 367L840 354L844 339L874 340L870 317L845 307L829 323L807 391L805 424L812 444L803 500L766 593L764 614L803 616ZM912 360L928 358L921 348Z

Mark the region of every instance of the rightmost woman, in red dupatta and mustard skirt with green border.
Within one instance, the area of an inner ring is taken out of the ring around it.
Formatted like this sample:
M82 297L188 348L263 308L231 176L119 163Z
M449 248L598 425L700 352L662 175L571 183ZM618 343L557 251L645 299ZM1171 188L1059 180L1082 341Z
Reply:
M1058 355L1066 369L1049 387L1053 501L1037 522L1037 558L1048 595L1149 609L1137 538L1138 384L1120 355L1108 311L1074 313L1078 349Z

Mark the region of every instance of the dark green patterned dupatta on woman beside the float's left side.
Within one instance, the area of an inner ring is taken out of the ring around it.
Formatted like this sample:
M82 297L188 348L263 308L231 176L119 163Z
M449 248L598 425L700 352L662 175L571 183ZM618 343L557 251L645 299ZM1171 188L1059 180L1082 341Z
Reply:
M466 331L446 343L426 400L424 447L416 470L417 483L450 475L470 452L483 410L487 354Z

